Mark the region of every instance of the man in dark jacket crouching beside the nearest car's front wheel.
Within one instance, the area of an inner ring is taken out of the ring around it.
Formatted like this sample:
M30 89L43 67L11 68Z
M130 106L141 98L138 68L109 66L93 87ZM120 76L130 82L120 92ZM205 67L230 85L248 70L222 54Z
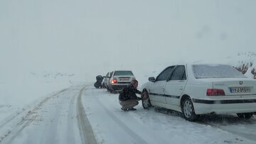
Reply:
M134 106L139 104L139 100L142 98L138 97L136 94L142 94L137 89L138 81L133 79L131 84L128 87L122 89L122 92L119 94L119 104L122 106L123 111L134 111Z

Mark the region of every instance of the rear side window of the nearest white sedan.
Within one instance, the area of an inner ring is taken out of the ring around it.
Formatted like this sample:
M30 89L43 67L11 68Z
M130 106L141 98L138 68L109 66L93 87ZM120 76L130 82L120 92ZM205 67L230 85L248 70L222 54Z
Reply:
M186 70L184 65L178 65L171 74L170 80L186 80Z

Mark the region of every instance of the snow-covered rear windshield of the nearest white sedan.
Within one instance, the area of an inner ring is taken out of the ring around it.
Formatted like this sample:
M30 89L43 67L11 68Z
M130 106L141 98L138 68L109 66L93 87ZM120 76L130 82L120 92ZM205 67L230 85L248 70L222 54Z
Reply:
M205 78L244 78L245 75L230 65L193 65L196 79Z

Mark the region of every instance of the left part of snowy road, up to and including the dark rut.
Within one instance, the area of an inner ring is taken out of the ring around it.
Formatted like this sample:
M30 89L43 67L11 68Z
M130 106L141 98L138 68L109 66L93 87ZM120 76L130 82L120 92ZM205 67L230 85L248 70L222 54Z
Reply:
M1 143L96 143L80 103L83 87L63 89L7 118Z

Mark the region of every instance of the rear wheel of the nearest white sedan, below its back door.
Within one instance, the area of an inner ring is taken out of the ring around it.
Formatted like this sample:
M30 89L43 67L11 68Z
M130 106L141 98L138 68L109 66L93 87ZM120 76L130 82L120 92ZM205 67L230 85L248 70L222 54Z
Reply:
M182 101L181 109L182 109L183 117L187 121L195 121L196 118L198 118L190 98L186 98Z

